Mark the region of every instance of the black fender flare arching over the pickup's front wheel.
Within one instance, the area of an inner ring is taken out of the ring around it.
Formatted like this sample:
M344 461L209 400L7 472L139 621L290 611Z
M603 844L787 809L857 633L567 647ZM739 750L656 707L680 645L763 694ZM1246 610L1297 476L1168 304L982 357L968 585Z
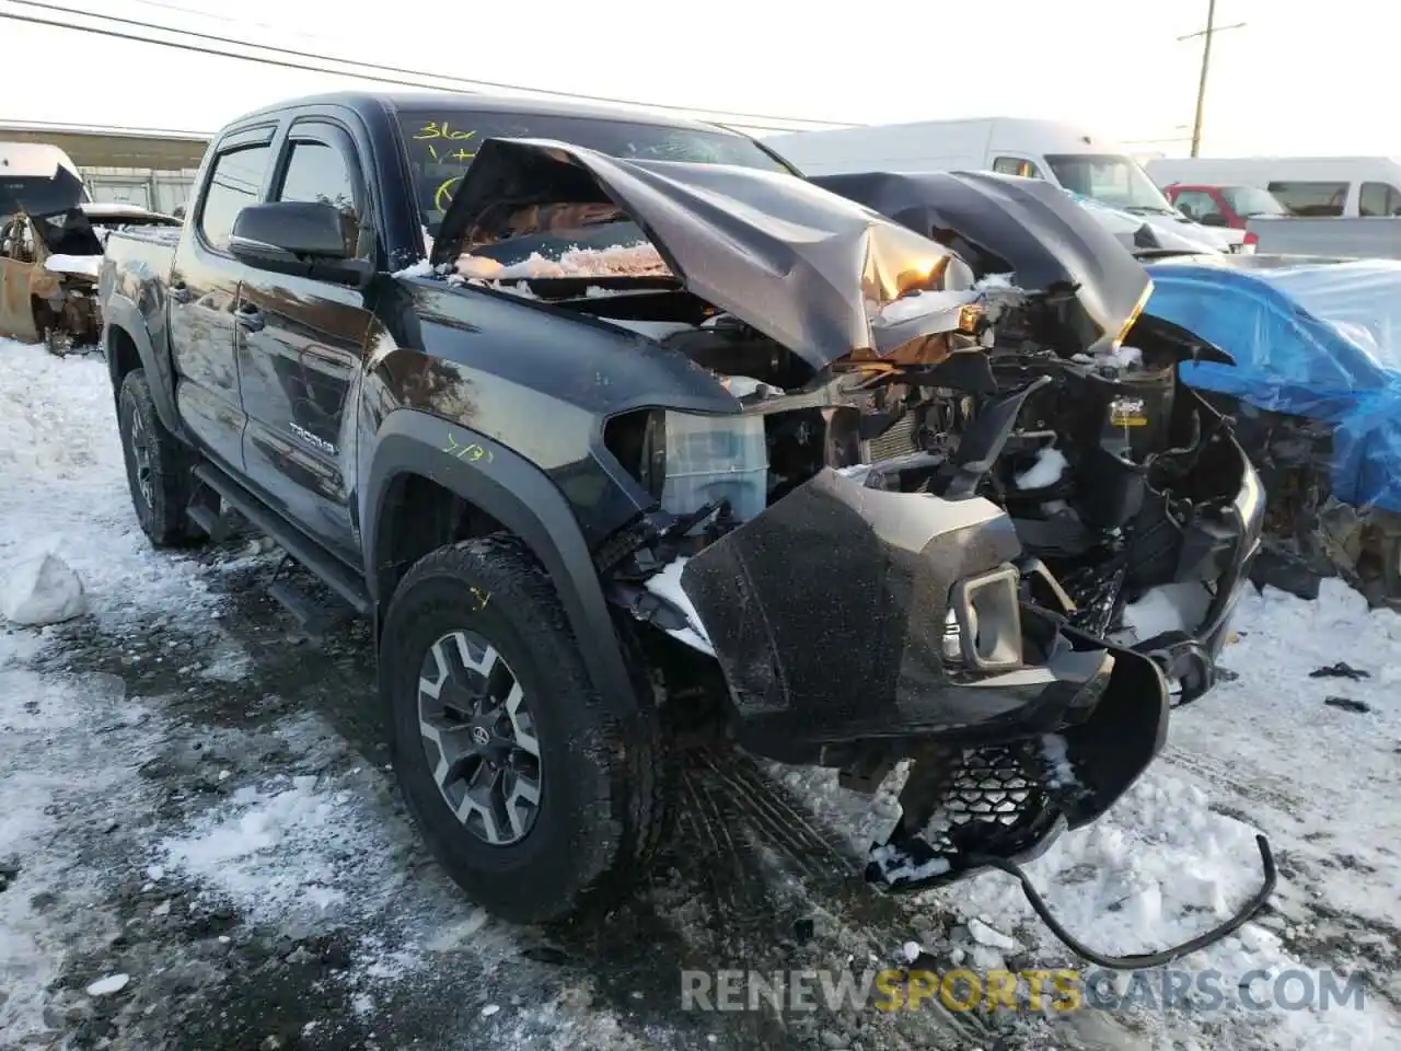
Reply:
M380 426L363 489L366 580L377 611L388 594L377 565L380 524L395 478L429 478L490 514L531 549L569 618L598 696L635 716L639 698L614 629L608 600L583 530L563 493L535 464L460 423L417 409L395 409Z

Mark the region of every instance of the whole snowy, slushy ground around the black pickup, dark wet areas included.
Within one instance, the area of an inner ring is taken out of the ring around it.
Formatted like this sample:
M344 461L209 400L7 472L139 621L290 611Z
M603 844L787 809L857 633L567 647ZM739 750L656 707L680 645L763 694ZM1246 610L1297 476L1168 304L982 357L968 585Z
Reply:
M1073 960L1002 874L908 907L814 890L785 872L785 851L822 845L793 823L738 852L727 881L695 844L743 778L689 792L686 846L608 925L502 925L403 817L363 636L289 631L258 597L269 555L240 545L150 551L101 360L0 341L0 575L53 551L88 604L50 628L0 622L0 1047L1401 1047L1401 617L1342 586L1317 603L1247 596L1224 657L1237 678L1174 712L1163 760L1030 872L1087 943L1156 949L1255 888L1258 828L1281 867L1274 908L1177 967L1220 971L1227 1001L1251 970L1358 971L1362 1010L1164 1013L1140 998L1016 1024L807 1026L682 1015L677 970L895 966L905 942L940 966ZM1370 675L1311 677L1338 661ZM831 778L778 778L853 845L877 831L846 821ZM793 908L815 935L785 926Z

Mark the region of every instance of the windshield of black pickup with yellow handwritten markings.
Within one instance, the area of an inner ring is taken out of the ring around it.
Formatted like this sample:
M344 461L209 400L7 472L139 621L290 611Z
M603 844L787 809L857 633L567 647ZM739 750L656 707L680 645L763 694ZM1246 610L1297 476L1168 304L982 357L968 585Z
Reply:
M468 109L402 112L399 128L409 150L415 193L429 235L437 234L453 192L486 139L558 139L628 160L734 164L789 171L754 140L719 128L675 128L593 116Z

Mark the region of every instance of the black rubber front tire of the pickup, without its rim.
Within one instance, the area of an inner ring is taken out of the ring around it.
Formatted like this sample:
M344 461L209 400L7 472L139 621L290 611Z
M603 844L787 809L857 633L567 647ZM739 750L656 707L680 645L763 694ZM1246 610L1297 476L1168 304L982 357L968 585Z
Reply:
M541 800L525 837L492 845L454 814L419 724L433 643L472 632L510 666L534 719ZM636 670L635 670L635 678ZM509 534L425 555L403 577L380 639L394 771L429 848L467 894L518 923L581 918L626 897L670 828L672 771L650 696L619 716L597 694L544 568Z

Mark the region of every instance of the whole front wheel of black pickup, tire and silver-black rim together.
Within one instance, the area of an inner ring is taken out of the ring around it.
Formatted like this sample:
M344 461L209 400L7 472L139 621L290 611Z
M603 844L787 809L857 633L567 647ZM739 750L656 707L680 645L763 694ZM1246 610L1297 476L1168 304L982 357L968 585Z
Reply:
M563 919L625 895L665 810L650 706L594 691L549 577L514 538L439 548L385 615L380 684L405 802L490 912Z

